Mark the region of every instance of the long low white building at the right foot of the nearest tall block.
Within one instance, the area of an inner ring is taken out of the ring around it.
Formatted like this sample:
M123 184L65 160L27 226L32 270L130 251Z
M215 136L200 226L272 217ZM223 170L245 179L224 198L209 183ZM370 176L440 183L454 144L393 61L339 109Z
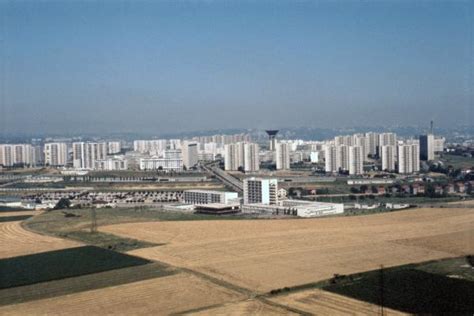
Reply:
M290 215L299 217L320 217L344 213L342 203L324 203L302 200L283 200L276 205L244 204L243 213L266 215Z

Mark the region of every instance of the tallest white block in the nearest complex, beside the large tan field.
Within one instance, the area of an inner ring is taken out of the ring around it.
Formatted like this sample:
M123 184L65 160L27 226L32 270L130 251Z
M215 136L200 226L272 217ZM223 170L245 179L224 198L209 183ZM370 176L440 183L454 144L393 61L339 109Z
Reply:
M278 180L263 178L244 179L244 204L272 205L278 202Z

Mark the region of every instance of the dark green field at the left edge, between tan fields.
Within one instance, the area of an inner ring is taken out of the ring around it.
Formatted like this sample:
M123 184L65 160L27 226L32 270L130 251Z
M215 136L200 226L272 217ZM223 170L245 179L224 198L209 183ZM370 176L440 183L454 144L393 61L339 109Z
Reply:
M94 246L84 246L0 260L0 289L60 280L150 261Z

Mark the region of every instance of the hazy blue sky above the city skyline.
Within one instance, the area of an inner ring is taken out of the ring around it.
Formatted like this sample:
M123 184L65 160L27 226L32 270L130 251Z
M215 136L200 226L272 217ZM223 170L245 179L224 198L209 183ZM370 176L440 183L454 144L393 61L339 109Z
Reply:
M474 124L474 1L0 0L0 133Z

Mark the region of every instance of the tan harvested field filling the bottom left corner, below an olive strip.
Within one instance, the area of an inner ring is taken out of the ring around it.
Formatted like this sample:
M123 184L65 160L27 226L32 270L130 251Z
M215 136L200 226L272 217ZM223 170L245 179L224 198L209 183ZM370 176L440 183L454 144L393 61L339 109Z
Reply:
M244 297L188 273L0 307L1 315L169 315Z

